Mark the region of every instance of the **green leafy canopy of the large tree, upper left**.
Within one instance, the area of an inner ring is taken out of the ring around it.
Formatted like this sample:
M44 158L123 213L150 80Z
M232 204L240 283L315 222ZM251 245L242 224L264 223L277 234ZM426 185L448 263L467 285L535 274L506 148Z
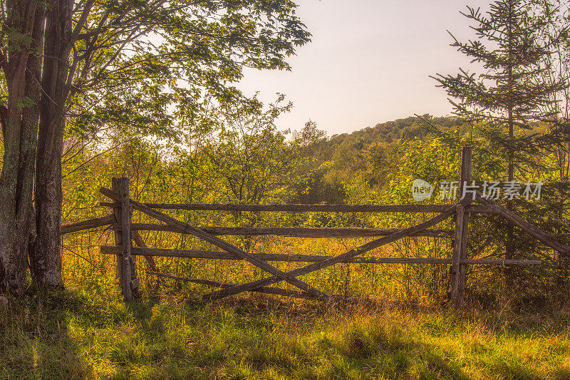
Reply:
M94 1L76 11L68 108L75 133L110 123L180 138L215 104L259 102L233 86L244 67L289 69L309 41L293 1ZM86 16L87 14L87 16Z

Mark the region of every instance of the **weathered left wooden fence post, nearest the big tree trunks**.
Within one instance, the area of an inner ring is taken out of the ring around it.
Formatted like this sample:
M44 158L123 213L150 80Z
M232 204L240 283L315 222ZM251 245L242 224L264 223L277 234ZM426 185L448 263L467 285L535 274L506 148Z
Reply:
M130 255L132 245L130 235L130 202L129 179L113 178L113 191L120 195L120 207L114 207L113 213L120 228L115 230L115 245L120 247L121 254L117 256L117 274L125 302L138 297L138 278L136 277L135 257Z

